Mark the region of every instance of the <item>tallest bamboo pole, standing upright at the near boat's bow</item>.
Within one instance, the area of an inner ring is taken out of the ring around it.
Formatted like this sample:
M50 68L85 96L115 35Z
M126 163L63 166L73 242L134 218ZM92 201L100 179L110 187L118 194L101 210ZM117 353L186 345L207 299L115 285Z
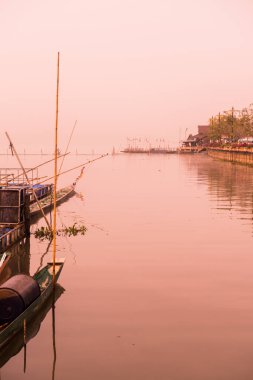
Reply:
M54 217L53 217L53 284L55 286L55 258L56 258L56 191L57 191L57 155L58 155L58 113L59 113L59 68L60 53L57 55L57 83L56 83L56 117L55 117L55 147L54 147Z

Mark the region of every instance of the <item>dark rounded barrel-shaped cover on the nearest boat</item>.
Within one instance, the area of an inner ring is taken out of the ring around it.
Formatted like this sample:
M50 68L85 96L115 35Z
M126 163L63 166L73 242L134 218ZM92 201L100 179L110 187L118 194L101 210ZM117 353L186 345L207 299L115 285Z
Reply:
M40 295L34 278L17 274L0 286L0 324L10 323Z

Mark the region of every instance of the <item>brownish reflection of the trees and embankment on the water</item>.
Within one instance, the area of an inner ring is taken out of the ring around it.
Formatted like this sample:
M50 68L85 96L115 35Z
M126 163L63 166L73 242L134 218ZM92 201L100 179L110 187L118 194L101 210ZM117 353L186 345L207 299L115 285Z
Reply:
M229 212L230 217L253 219L253 168L214 160L206 155L180 157L189 180L206 185L217 213Z

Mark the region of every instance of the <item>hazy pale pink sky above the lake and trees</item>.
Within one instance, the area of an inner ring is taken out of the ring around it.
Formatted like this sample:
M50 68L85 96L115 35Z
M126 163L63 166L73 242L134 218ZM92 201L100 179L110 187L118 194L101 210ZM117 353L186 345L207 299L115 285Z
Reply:
M0 0L1 147L62 149L164 138L253 102L252 0Z

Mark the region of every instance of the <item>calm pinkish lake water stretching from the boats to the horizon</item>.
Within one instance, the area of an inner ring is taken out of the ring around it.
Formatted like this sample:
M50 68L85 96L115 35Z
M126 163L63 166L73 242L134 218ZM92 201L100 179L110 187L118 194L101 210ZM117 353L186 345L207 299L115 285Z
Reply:
M22 159L29 167L48 157ZM68 157L64 170L87 159ZM56 356L49 310L27 345L26 372L22 349L1 380L252 379L253 168L207 155L108 156L59 207L58 226L74 222L88 231L57 241L66 263ZM47 245L31 237L31 275L51 258Z

